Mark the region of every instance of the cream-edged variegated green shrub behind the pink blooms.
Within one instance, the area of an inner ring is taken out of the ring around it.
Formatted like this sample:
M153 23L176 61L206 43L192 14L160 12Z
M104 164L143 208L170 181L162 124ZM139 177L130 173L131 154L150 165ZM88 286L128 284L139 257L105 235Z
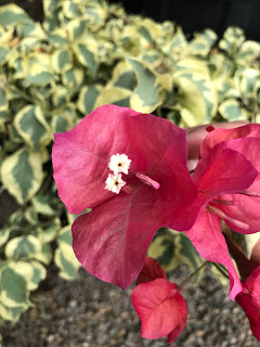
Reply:
M0 232L0 320L18 320L51 261L63 278L77 277L75 216L52 179L53 132L108 103L183 127L260 119L260 44L239 28L187 41L173 23L102 0L43 0L43 8L42 24L15 4L0 8L0 189L17 203ZM191 247L181 234L161 234L150 255L167 270L183 259L196 268Z

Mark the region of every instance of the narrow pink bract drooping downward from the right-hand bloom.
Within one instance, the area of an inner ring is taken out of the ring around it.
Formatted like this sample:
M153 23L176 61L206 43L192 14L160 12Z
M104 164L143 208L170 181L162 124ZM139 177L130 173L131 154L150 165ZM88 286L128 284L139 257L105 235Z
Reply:
M202 257L227 268L230 297L234 300L242 291L242 285L221 231L220 218L204 209L193 228L185 233Z

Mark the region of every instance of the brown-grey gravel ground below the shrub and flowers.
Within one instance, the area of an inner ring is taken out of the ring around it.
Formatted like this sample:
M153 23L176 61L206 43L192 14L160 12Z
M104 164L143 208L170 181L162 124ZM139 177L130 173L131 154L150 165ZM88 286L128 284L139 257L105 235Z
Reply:
M181 275L180 275L181 274ZM171 277L178 283L188 275L179 268ZM179 280L178 280L179 278ZM180 280L180 278L182 278ZM188 304L188 320L171 345L166 339L140 337L139 317L129 295L103 283L82 269L79 279L67 282L51 267L47 281L32 293L35 304L15 326L1 329L4 347L257 347L242 309L227 297L227 288L206 272L199 286L182 292Z

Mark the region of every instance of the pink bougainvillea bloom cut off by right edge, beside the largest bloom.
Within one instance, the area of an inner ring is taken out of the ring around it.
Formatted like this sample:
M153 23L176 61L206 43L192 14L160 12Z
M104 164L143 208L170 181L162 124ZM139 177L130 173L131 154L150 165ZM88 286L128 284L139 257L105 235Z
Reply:
M198 215L193 228L186 232L187 236L204 258L227 268L232 299L242 291L242 286L222 234L221 219L233 230L244 234L260 229L260 205L257 196L260 138L238 138L236 133L240 130L237 129L242 128L217 129L209 132L203 141L200 159L193 174L199 194L187 211L190 217L191 214ZM259 129L258 126L258 131ZM247 129L244 133L255 134L258 131ZM232 140L224 137L223 132L233 133L230 137ZM214 142L211 141L212 145L206 146L212 137Z

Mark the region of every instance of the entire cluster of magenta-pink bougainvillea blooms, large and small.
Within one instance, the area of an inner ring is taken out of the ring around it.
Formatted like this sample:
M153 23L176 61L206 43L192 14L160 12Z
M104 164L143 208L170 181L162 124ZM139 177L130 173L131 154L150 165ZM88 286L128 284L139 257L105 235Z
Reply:
M159 228L183 231L202 257L227 268L230 297L260 340L260 268L242 282L221 229L224 220L242 234L260 230L260 126L209 127L196 145L193 138L188 155L186 131L115 105L54 134L61 200L72 214L92 208L73 224L74 252L88 272L123 290L139 275L132 304L142 336L172 342L185 325L186 301L145 256Z

